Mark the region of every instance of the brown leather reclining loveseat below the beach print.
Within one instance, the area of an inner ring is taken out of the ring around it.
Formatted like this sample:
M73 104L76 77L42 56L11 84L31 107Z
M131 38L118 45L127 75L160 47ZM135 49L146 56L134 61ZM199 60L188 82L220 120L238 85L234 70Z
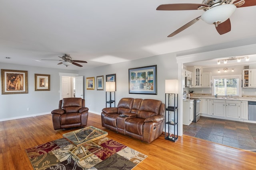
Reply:
M102 109L102 126L146 143L157 139L164 128L165 104L160 100L122 98L117 107Z

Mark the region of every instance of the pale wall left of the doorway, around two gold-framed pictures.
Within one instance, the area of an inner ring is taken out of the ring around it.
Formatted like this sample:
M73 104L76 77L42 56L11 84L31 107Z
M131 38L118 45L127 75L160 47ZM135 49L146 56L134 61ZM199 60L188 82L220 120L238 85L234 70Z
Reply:
M58 101L60 100L59 72L78 72L6 63L0 63L0 68L28 71L28 94L0 95L0 121L50 113L53 109L57 109ZM50 91L34 90L34 74L50 74ZM30 111L27 111L27 108L30 108Z

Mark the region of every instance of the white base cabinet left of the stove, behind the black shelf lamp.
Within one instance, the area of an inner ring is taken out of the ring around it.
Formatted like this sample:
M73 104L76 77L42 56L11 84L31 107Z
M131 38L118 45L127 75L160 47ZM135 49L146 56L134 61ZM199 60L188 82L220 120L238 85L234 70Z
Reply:
M183 125L190 125L194 120L194 100L183 100Z

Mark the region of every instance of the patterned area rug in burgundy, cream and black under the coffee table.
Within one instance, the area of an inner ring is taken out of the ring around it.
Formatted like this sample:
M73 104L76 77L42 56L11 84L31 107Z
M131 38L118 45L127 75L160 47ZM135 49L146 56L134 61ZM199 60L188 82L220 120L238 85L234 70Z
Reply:
M34 170L131 170L147 157L108 137L94 143L103 149L81 161L68 152L73 145L64 138L26 149L26 152Z

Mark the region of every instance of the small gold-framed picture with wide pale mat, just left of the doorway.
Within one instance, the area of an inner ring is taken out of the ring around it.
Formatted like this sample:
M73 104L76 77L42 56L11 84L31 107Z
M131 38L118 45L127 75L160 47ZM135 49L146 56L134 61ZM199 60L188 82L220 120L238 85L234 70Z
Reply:
M50 91L50 74L35 74L35 91Z

